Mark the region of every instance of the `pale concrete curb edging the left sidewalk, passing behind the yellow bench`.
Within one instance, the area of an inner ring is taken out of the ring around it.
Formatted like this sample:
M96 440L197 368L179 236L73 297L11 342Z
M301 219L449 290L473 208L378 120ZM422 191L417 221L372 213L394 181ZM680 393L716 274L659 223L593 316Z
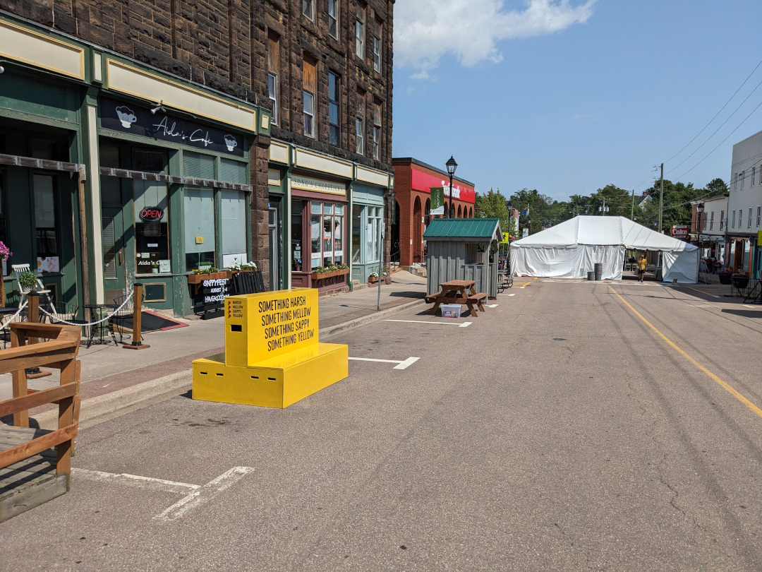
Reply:
M386 308L386 310L381 310L380 312L370 313L367 316L320 329L319 335L321 337L335 336L349 329L383 320L387 316L424 304L424 302L425 300L421 298L420 300L413 300L399 306ZM136 384L132 387L125 387L110 394L103 394L83 400L79 410L79 425L84 427L89 424L99 423L100 421L106 421L122 413L127 413L130 409L139 408L138 406L143 403L154 402L162 397L172 397L184 393L184 391L191 389L193 384L192 375L191 368L188 368L183 371L177 371L174 374L165 375L162 378L144 381L142 384ZM40 429L58 428L57 409L39 413L34 416L34 419L37 421ZM94 421L94 423L88 423L89 421Z

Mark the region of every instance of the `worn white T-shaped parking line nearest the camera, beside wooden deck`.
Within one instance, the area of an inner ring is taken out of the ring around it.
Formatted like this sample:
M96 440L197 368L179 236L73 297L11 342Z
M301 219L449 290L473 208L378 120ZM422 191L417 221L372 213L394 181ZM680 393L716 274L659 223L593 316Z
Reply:
M178 520L185 513L196 508L207 500L213 499L223 490L232 487L246 474L254 471L252 467L233 467L229 471L210 480L207 484L177 483L174 480L155 479L153 477L141 477L137 474L115 474L103 471L90 471L88 469L73 468L75 478L88 480L101 480L107 483L126 484L130 487L140 487L149 490L161 490L165 493L185 493L185 496L165 509L164 512L154 516L154 520L169 522Z

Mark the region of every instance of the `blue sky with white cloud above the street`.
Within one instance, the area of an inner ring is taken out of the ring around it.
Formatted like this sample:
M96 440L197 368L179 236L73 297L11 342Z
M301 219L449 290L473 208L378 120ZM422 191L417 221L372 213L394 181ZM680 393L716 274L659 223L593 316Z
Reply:
M762 130L760 0L394 10L392 156L446 169L452 155L478 192L638 195L661 162L665 179L702 188L728 182L733 144Z

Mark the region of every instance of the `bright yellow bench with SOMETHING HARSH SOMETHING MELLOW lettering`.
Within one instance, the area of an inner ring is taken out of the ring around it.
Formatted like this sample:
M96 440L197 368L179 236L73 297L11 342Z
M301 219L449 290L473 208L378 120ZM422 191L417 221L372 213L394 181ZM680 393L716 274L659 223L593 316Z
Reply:
M347 346L318 329L312 288L226 297L225 353L194 360L194 399L283 408L346 378Z

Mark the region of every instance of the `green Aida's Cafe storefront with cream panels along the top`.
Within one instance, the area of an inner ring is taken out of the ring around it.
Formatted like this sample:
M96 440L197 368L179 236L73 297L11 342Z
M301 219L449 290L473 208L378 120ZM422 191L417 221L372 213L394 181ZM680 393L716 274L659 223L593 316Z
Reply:
M0 239L56 300L192 311L187 274L251 256L249 148L267 111L0 17ZM14 39L18 41L13 41Z

